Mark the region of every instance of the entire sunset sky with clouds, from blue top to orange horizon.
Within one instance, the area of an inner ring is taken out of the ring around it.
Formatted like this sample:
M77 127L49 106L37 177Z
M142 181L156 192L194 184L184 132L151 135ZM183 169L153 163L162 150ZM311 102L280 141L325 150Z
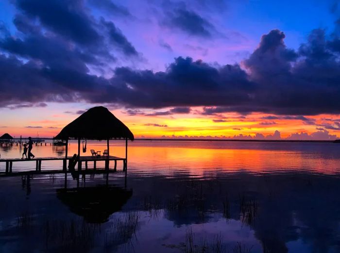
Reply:
M0 1L0 134L331 140L339 98L337 0Z

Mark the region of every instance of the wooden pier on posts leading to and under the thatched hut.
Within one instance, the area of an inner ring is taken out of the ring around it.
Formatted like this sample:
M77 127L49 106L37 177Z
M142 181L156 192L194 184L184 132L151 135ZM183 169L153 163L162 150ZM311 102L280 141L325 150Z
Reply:
M13 158L13 159L0 159L0 163L6 163L6 169L5 172L0 172L0 176L7 176L7 175L14 175L14 174L27 174L28 172L32 173L43 173L44 171L41 171L41 163L42 161L63 161L63 169L62 170L49 170L50 173L67 173L68 172L68 166L67 161L72 160L71 156L68 157L36 157L31 159L20 159L20 158ZM13 171L13 163L14 162L33 162L35 161L35 170L20 170L20 171ZM101 169L103 172L108 172L110 170L110 161L114 161L115 165L113 168L113 171L117 171L117 161L123 162L123 171L125 171L125 174L127 173L127 159L117 156L81 156L79 157L77 163L78 163L78 172L82 173L82 164L85 163L85 170L88 169L88 162L93 162L93 170L95 171L97 169L97 162L104 161L105 162L105 168ZM74 170L72 170L74 171ZM47 171L46 171L47 172Z

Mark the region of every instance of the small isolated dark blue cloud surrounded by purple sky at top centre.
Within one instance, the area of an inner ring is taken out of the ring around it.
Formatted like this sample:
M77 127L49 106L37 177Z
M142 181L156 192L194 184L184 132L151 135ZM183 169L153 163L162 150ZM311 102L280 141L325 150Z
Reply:
M214 31L214 26L208 20L194 11L187 10L185 6L167 11L162 24L201 37L211 37L211 32Z

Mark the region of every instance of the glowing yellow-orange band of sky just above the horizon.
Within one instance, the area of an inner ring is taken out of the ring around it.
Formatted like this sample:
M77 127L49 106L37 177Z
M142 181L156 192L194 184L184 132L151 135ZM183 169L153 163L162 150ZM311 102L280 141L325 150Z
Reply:
M79 115L75 112L88 108L82 104L50 103L44 108L21 108L11 110L0 109L0 134L9 133L13 136L37 136L52 137L73 119ZM141 113L150 114L162 110L140 110ZM66 113L68 112L68 113ZM272 135L278 130L282 138L293 133L314 133L321 129L327 130L330 135L340 136L336 130L326 129L324 125L330 124L330 119L340 118L338 115L306 116L310 121L301 119L284 119L284 116L276 116L276 119L263 119L269 114L253 113L240 115L228 113L223 115L202 115L202 107L191 107L188 114L171 114L166 116L129 116L124 109L111 110L111 112L124 122L138 137L162 137L162 136L217 136L233 137L234 135ZM214 121L215 120L215 121ZM317 129L318 128L318 129Z

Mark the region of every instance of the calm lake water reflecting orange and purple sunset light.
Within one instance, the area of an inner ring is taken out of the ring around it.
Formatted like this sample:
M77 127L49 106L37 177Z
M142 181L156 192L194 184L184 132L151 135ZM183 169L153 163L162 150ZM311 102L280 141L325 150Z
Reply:
M87 142L84 155L105 147ZM124 143L110 154L124 156ZM126 182L122 172L0 177L0 252L340 252L340 145L135 141L128 156Z

